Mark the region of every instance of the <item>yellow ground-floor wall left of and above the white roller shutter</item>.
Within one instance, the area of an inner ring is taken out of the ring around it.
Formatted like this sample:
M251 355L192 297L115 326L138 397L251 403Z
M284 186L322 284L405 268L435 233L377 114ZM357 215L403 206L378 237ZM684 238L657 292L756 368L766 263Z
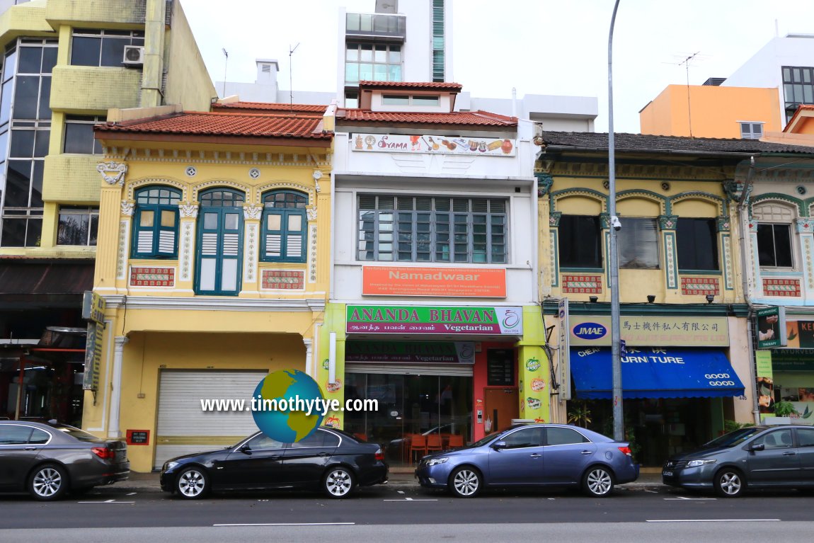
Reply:
M133 471L151 471L155 452L160 368L168 370L304 370L299 335L133 333L125 345L120 429L148 429L149 446L130 446ZM138 397L142 394L144 397ZM193 406L198 407L199 406ZM204 432L202 432L204 433ZM240 437L240 436L238 436Z

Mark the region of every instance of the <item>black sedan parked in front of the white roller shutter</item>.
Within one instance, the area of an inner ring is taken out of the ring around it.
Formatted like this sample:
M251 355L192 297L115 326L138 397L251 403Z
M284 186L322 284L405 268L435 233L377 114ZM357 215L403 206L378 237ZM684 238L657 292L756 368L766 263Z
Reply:
M187 499L210 491L278 488L321 489L340 498L354 488L386 482L378 444L322 427L294 443L257 432L234 447L173 458L161 468L161 488Z

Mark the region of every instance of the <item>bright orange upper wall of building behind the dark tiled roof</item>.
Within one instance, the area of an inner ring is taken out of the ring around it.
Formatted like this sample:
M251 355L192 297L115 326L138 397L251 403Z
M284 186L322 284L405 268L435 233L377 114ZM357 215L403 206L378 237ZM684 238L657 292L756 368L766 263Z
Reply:
M739 121L763 121L764 133L781 130L777 89L667 85L639 113L641 134L696 138L741 138Z

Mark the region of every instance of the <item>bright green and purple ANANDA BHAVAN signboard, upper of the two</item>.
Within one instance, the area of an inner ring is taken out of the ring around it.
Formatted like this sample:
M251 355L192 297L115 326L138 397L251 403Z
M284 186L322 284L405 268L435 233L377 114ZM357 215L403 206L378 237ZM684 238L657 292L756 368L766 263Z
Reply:
M348 334L523 335L520 307L348 305Z

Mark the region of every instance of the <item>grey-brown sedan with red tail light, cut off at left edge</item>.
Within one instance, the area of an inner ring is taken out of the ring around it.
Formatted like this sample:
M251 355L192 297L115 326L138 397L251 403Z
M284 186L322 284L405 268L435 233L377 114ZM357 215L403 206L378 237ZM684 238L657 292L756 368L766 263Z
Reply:
M56 500L130 473L127 444L58 423L0 421L0 492Z

